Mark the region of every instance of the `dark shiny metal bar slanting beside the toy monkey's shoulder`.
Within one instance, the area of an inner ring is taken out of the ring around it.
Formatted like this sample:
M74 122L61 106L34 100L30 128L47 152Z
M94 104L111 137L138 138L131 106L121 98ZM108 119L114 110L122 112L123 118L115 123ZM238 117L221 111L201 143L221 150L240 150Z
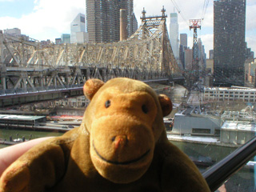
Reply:
M256 137L252 138L249 142L240 146L233 153L223 158L222 161L211 166L208 170L202 173L206 179L210 190L218 190L228 178L237 173L251 158L256 155Z

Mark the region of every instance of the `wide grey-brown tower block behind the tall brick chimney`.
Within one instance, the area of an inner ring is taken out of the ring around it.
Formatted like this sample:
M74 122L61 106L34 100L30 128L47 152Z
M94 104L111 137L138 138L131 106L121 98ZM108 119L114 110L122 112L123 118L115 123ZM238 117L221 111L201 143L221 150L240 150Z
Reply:
M90 42L118 42L120 10L126 10L127 36L134 34L133 0L86 0L86 24ZM138 27L138 26L137 26ZM137 30L136 27L136 30Z

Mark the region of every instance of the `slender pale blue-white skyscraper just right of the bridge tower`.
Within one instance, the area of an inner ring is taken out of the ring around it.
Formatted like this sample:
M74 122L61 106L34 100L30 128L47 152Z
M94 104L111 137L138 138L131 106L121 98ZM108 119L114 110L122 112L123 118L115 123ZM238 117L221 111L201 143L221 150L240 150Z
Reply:
M170 14L170 45L174 52L174 57L178 58L178 50L179 50L179 42L178 42L178 14L171 13Z

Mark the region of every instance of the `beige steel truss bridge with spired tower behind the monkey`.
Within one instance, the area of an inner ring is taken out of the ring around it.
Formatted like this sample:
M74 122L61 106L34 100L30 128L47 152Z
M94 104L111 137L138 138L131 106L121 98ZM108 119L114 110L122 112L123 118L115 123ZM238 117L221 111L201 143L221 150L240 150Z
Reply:
M165 10L145 17L127 40L43 45L0 31L0 106L82 94L90 78L174 81L181 77L170 46Z

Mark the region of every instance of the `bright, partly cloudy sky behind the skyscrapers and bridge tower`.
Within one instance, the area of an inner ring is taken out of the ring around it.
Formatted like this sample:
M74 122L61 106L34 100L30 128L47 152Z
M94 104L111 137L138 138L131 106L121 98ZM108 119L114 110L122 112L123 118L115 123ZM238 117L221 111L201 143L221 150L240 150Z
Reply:
M174 8L174 4L176 8ZM179 34L188 35L188 46L192 47L193 31L189 30L189 19L202 18L202 30L198 30L198 38L202 39L207 57L213 49L214 14L213 1L204 6L203 0L134 0L134 14L141 24L143 7L146 16L160 15L162 6L167 14L166 26L169 30L170 13L178 13ZM246 42L256 54L256 1L246 0ZM203 14L203 12L205 14ZM86 14L86 0L0 0L0 30L19 28L22 34L39 41L60 38L62 34L70 34L70 22L77 14Z

